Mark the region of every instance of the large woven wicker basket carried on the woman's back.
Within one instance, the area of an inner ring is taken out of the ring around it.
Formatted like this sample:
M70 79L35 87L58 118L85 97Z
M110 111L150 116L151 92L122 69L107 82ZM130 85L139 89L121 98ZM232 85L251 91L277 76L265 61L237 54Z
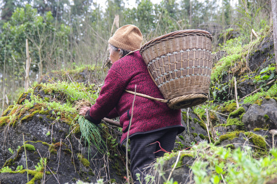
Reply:
M212 35L203 30L168 33L145 43L140 53L172 109L205 102L211 74Z

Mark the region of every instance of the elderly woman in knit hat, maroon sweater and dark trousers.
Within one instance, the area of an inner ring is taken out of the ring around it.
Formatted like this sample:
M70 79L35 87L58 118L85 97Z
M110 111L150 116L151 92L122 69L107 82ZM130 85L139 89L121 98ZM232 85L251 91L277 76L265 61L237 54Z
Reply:
M156 157L163 156L161 148L170 152L176 135L185 129L181 125L180 110L172 110L166 103L140 96L134 100L134 95L125 91L136 90L136 93L164 99L138 51L142 40L141 31L134 25L123 26L114 33L108 41L112 66L100 95L92 107L80 110L80 114L94 124L99 124L105 117L119 116L123 132L121 145L127 141L130 128L130 170L134 180L136 173L140 173L141 181L145 177L144 168Z

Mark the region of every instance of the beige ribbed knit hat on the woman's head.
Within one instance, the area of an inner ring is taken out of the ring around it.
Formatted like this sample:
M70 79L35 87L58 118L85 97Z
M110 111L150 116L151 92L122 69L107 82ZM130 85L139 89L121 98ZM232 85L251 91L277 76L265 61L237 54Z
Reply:
M125 25L118 28L108 42L118 49L134 51L141 48L142 40L140 29L134 25Z

